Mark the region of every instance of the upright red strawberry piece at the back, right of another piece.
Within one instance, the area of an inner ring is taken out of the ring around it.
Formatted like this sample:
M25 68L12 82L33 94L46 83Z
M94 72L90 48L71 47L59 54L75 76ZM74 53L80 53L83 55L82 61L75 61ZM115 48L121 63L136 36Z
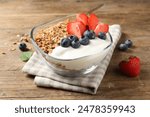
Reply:
M96 26L98 25L98 18L95 14L90 14L88 18L88 25L90 30L95 30Z

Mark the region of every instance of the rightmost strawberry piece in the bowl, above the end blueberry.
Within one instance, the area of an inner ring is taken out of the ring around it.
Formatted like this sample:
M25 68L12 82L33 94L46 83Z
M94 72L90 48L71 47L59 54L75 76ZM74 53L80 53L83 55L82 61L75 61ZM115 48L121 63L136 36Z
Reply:
M94 32L96 33L96 35L98 35L99 32L107 33L108 30L109 30L109 25L108 24L100 23L96 26Z

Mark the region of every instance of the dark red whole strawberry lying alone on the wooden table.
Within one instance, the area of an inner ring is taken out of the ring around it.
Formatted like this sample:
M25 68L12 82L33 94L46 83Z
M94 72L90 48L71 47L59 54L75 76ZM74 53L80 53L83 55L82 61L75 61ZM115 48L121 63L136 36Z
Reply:
M127 61L119 63L119 69L122 73L130 77L136 77L140 74L140 59L130 56Z

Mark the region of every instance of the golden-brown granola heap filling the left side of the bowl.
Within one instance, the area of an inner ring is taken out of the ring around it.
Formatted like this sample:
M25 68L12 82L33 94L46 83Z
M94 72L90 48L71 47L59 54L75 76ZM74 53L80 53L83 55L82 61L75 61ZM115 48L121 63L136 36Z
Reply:
M35 36L35 41L37 45L46 53L51 53L54 48L56 48L61 39L68 35L67 32L68 20L59 22L54 26L42 29L38 31Z

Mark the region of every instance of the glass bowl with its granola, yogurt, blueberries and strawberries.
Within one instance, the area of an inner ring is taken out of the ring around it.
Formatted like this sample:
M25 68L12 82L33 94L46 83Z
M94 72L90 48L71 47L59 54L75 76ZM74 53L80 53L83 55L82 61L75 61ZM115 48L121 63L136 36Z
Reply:
M31 42L41 60L62 76L94 71L109 52L113 39L108 24L95 14L52 20L31 30Z

